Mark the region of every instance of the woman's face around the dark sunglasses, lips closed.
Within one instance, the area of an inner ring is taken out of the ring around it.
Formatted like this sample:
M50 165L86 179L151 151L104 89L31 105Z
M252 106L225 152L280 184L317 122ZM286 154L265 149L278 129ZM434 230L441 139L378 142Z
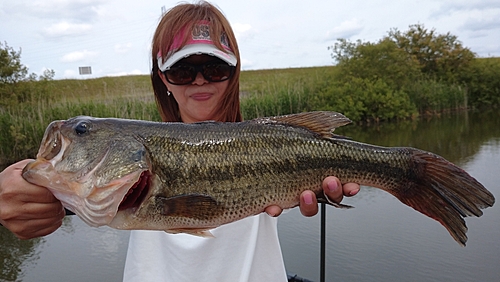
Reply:
M214 60L209 55L192 55L182 62L197 65ZM229 80L222 82L207 81L201 73L196 75L196 79L186 85L174 85L169 83L164 74L160 77L172 92L175 100L179 104L181 119L186 123L193 123L205 120L214 120L215 109L221 103L229 85Z

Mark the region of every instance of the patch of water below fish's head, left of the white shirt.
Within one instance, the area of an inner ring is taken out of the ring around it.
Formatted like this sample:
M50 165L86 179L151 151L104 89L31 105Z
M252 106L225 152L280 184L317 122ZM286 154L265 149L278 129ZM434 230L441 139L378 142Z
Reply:
M2 265L0 281L121 281L128 236L129 231L90 228L76 216L36 240L18 240L1 227L0 255L8 265Z

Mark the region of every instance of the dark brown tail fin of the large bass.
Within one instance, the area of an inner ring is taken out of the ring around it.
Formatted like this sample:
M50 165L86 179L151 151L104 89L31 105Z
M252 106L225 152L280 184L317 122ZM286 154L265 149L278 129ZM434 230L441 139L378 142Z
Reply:
M462 246L467 242L463 217L481 216L495 203L493 195L463 169L444 158L413 148L415 181L389 191L401 202L439 221Z

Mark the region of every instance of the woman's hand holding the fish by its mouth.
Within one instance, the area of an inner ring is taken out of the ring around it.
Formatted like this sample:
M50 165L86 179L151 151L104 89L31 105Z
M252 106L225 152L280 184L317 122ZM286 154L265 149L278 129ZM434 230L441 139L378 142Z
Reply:
M61 202L49 190L22 178L30 161L20 161L0 172L0 223L20 239L54 232L65 215Z

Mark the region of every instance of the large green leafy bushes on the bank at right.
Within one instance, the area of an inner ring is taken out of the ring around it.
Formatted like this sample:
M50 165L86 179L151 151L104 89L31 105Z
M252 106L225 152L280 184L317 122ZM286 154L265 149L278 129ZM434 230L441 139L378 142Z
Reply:
M353 120L500 105L499 58L478 58L450 33L415 24L375 43L338 39L328 49L339 71L318 90L315 104Z

